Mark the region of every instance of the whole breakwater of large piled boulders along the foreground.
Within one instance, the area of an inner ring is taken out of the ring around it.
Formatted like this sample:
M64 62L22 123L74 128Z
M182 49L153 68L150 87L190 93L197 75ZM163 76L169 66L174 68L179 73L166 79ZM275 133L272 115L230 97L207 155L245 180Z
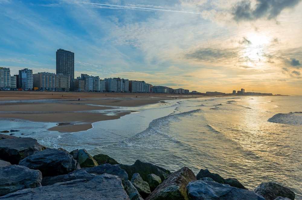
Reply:
M20 145L21 144L21 145ZM294 200L290 189L276 183L254 191L237 179L201 169L171 173L137 160L118 164L105 154L85 149L67 152L38 144L33 138L0 134L0 199L127 200Z

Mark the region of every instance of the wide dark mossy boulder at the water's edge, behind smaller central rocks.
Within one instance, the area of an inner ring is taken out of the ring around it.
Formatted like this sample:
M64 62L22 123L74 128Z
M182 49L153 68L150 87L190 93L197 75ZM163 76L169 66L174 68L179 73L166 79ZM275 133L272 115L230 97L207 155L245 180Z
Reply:
M165 176L168 176L167 173L163 172L162 170L160 170L155 165L153 165L151 163L144 163L140 160L135 161L135 163L133 165L119 164L119 166L120 166L120 168L124 169L127 172L129 178L132 177L132 175L134 173L139 173L140 177L142 177L142 179L144 181L147 180L148 174L155 174L159 177L160 177L161 174L164 174ZM162 176L162 177L164 177L164 176ZM162 181L163 180L164 179L162 179Z

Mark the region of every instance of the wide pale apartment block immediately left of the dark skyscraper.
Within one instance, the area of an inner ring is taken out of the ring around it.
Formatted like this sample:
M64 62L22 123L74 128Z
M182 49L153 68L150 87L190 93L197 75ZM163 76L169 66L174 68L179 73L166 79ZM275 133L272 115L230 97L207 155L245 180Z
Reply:
M33 87L40 90L56 90L56 74L49 72L33 74Z

